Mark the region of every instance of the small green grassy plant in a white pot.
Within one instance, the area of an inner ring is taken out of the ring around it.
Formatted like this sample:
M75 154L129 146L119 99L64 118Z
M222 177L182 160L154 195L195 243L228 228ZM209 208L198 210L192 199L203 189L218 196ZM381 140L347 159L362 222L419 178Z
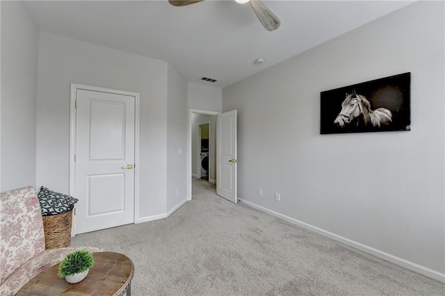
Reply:
M63 258L58 265L58 276L65 278L68 283L79 283L85 279L94 263L91 252L79 249Z

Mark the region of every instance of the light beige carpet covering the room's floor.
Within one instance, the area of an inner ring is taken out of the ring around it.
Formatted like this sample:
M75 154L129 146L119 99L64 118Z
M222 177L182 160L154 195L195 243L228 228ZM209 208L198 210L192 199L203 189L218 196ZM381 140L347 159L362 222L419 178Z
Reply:
M73 246L126 254L132 295L445 295L445 285L215 195L163 220L81 234Z

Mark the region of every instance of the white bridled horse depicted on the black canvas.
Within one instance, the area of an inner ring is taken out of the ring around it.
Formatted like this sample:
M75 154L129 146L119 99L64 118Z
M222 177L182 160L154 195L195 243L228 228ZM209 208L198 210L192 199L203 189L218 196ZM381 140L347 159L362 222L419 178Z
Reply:
M371 104L361 94L346 93L346 99L341 103L341 111L334 124L343 128L355 122L356 126L364 125L370 127L386 126L392 122L392 113L387 108L371 110Z

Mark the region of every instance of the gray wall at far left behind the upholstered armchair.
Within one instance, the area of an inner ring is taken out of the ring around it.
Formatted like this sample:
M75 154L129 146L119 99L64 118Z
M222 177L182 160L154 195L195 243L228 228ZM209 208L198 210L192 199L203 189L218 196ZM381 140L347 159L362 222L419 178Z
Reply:
M23 4L1 1L0 190L35 186L38 31Z

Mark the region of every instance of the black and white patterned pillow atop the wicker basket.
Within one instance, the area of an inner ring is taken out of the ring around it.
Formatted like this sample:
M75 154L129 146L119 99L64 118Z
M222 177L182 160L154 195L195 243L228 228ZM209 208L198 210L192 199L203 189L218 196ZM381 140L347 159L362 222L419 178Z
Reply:
M45 187L40 187L40 192L37 195L40 203L40 211L42 216L56 215L71 211L74 204L79 202L79 199L64 195L59 192L49 190Z

